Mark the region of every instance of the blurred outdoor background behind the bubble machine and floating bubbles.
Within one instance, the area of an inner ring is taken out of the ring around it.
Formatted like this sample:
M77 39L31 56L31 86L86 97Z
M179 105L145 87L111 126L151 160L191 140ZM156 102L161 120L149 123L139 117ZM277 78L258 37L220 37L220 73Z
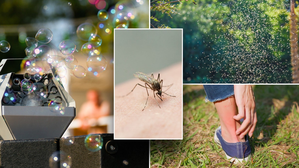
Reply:
M73 73L73 69L65 68L65 77L61 77L65 90L76 102L76 117L69 126L71 130L67 133L74 135L91 132L113 133L114 28L149 28L148 4L148 0L1 0L0 41L7 41L10 49L7 52L0 52L0 60L23 59L21 64L20 61L16 61L7 71L24 74L28 68L26 64L31 64L30 60L33 57L43 58L43 55L32 56L25 52L25 49L30 47L29 42L25 42L26 38L35 38L40 29L47 28L53 35L49 43L38 42L36 48L39 48L40 54L49 55L49 52L42 53L40 47L46 45L46 48L50 48L51 55L65 59L69 55L61 53L60 43L64 40L73 41L76 49L71 58L76 59L77 65L82 66L86 73L78 77ZM104 57L106 68L97 73L89 72L87 66L89 56L84 53L86 48L81 50L87 40L78 37L76 33L77 28L84 26L85 23L93 25L92 28L97 32L101 42L97 50L93 50L93 54ZM94 109L88 109L88 104L92 102ZM83 104L87 105L83 107ZM94 110L94 113L88 112L91 110ZM103 114L96 115L97 112ZM103 116L106 116L105 119L100 120ZM91 129L91 127L100 128Z

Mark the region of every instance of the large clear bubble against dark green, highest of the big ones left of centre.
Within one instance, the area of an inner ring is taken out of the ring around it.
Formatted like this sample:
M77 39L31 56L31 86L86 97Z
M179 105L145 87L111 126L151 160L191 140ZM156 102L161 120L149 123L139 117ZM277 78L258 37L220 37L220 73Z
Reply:
M83 41L88 41L90 36L97 35L97 29L90 23L82 23L77 28L77 36Z

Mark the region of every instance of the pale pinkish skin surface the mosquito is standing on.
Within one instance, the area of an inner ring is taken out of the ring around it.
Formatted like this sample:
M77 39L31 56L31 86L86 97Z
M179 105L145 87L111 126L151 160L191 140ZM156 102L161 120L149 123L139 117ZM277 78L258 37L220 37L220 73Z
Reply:
M145 85L137 78L115 86L114 138L182 138L182 65L178 63L159 72L154 72L155 79L157 79L158 73L160 73L160 80L163 80L163 86L173 84L170 88L169 86L162 87L162 91L176 97L162 93L164 96L161 101L155 94L160 108L153 91L147 89L149 93L147 100L146 88L139 85L129 95L122 97L128 94L137 83ZM143 108L144 111L142 111Z

